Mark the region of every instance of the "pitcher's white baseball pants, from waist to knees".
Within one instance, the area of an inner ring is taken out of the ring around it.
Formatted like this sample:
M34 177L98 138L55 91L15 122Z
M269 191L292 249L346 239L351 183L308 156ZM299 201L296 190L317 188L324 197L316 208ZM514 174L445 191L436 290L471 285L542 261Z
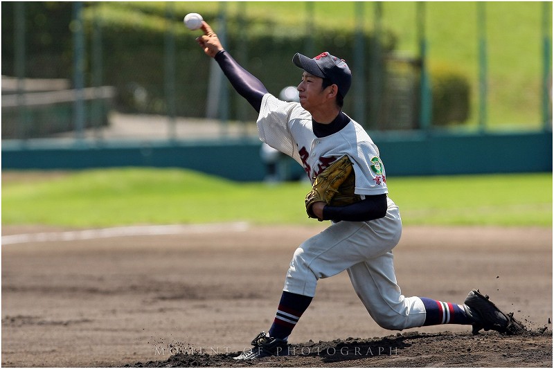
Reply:
M389 330L420 327L425 323L422 300L404 297L396 283L392 249L400 235L402 219L391 199L381 219L332 224L298 246L284 291L313 297L319 278L346 270L377 324Z

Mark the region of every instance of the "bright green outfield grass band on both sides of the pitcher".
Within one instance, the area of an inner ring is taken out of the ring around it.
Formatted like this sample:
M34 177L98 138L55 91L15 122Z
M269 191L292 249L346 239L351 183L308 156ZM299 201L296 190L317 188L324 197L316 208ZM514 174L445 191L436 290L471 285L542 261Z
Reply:
M404 224L552 226L552 175L391 177ZM307 183L226 181L189 170L3 172L2 224L317 224L303 207Z

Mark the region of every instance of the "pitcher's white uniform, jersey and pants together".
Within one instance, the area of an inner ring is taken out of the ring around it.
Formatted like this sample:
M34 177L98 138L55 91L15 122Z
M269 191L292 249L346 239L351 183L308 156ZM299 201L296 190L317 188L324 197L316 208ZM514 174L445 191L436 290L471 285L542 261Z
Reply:
M354 120L350 119L339 132L318 138L311 114L298 102L284 102L266 93L257 125L260 139L292 156L312 181L346 154L354 167L357 195L388 194L379 150ZM346 270L357 295L379 325L391 330L423 325L422 300L404 297L396 283L392 249L400 241L402 220L396 204L389 198L387 204L385 217L368 222L332 222L298 246L283 290L313 297L319 278Z

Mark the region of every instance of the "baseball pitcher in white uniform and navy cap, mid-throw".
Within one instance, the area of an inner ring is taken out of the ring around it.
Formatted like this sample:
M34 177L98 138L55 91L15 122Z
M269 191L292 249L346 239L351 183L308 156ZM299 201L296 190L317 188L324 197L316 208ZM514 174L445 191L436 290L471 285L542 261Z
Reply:
M234 89L258 111L262 142L303 165L314 186L325 168L345 156L355 174L357 201L345 206L315 201L307 208L312 217L332 222L298 246L269 332L258 334L253 348L235 359L287 354L287 339L310 305L319 278L344 270L370 316L386 329L451 323L473 325L474 334L481 329L508 331L512 317L478 290L470 291L463 304L402 295L392 253L402 233L400 212L388 197L377 146L341 109L352 81L344 60L328 52L314 58L294 55L292 62L303 71L297 87L300 101L286 102L235 62L205 21L202 30L197 42L204 53L215 58Z

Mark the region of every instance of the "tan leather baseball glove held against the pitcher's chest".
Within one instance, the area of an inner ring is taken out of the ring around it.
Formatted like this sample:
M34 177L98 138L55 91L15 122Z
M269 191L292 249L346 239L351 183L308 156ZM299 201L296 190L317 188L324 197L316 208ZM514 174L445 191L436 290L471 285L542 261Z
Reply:
M355 195L356 184L354 168L348 156L334 161L316 177L312 190L306 195L306 213L310 218L319 219L312 211L315 202L323 201L331 206L345 206L360 200Z

